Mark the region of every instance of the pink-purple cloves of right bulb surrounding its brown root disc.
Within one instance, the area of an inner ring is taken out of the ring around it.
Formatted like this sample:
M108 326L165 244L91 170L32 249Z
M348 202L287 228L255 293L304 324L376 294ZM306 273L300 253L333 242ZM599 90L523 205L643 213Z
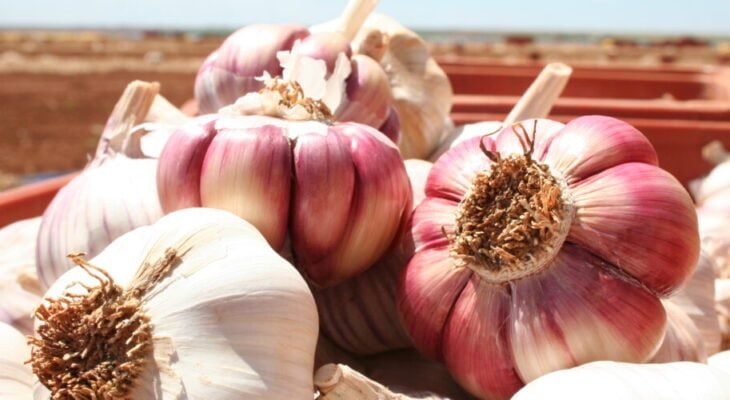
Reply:
M533 122L523 125L531 131ZM542 270L497 284L455 267L442 229L453 232L459 202L492 164L478 137L434 164L412 218L416 255L399 286L406 329L480 398L507 399L541 375L594 360L648 360L666 325L659 297L687 279L699 254L689 195L635 128L602 116L539 120L536 138L533 158L565 181L575 207L565 243ZM483 144L522 152L510 128Z

